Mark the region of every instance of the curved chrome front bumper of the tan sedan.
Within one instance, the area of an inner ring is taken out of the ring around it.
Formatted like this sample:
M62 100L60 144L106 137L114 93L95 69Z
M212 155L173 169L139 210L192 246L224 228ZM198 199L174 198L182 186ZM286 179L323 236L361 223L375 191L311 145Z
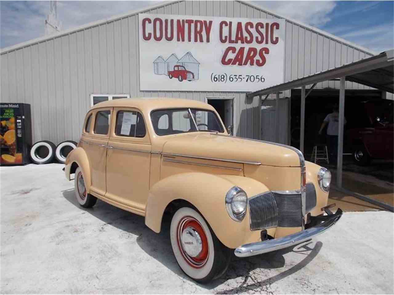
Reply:
M310 227L295 234L289 234L288 236L282 238L242 245L234 250L234 254L238 257L254 256L305 242L310 238L321 234L322 232L325 232L327 229L332 227L336 223L336 221L341 218L341 216L342 210L338 208L335 214L316 216L316 219L319 219L323 222L319 223L314 227Z

